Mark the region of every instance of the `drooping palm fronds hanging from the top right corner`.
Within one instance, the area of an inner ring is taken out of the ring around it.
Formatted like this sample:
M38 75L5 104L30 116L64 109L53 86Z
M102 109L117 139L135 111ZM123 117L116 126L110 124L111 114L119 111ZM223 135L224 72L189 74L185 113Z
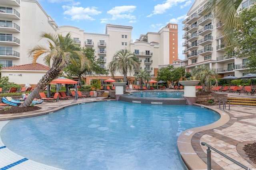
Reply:
M242 19L239 17L238 8L243 0L208 0L205 14L212 13L223 25L223 35L226 47L233 49L237 46L234 38L234 29L246 31Z

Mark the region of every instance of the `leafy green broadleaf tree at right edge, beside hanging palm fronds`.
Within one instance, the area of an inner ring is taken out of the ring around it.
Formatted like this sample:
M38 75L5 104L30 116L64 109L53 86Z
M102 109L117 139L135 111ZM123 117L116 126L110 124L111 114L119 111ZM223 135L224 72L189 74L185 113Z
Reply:
M235 39L238 41L236 47L236 57L248 57L246 68L249 72L256 71L256 5L244 8L240 13L240 18L244 22L247 32L234 31Z

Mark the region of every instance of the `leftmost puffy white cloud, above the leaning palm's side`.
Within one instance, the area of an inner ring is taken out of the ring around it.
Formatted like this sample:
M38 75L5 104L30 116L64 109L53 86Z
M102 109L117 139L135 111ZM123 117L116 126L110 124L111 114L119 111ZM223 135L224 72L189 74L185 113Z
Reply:
M64 15L70 16L71 20L95 20L91 16L101 14L96 7L76 7L76 6L62 6Z

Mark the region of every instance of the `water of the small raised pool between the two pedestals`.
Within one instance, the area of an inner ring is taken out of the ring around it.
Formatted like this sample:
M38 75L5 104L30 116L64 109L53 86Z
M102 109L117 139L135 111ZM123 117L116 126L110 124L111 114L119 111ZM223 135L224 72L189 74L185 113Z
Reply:
M141 98L183 98L184 92L166 92L166 91L148 91L148 92L133 92L126 96L141 97Z

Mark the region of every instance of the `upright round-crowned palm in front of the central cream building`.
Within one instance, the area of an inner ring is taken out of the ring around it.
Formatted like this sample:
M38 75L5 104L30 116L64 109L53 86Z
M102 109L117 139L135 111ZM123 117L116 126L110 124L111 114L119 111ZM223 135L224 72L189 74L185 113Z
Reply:
M108 63L108 68L110 70L110 74L114 77L116 71L120 72L124 75L124 82L127 80L128 72L132 72L132 70L138 70L140 67L139 59L132 53L127 50L119 50L117 51L110 63ZM124 92L126 87L124 86Z

